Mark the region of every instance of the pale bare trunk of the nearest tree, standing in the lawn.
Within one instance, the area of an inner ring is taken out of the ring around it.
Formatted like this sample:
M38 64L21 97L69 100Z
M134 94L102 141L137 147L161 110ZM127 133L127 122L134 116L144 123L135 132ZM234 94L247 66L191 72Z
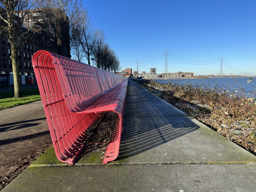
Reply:
M16 42L11 43L11 62L13 66L14 98L23 97L20 87L20 74L18 65L18 48Z

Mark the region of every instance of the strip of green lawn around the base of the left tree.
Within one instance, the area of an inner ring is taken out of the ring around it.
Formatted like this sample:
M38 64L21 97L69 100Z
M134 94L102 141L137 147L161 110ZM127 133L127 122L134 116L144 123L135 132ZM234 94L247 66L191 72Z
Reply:
M14 91L0 91L0 109L41 100L38 88L22 89L23 98L13 98Z

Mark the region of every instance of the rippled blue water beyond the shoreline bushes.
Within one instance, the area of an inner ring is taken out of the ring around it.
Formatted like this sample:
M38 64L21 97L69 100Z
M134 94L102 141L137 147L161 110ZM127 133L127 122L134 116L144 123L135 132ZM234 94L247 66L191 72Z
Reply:
M229 91L241 91L245 90L248 95L251 96L250 92L255 93L256 90L256 78L252 78L252 81L248 83L249 78L210 78L210 79L156 79L158 83L181 83L195 86L203 86L213 88L218 87L219 90L226 89ZM255 95L254 95L255 96Z

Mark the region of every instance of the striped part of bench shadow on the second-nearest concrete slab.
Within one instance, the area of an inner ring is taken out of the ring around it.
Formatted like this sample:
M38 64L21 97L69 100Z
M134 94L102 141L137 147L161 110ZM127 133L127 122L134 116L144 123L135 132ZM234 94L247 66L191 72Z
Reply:
M199 128L189 117L124 118L124 129L117 160L150 150Z

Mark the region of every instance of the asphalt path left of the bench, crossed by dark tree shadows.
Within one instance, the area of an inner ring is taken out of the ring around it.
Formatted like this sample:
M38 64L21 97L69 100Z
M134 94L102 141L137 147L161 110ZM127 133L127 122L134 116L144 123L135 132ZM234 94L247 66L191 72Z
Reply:
M41 101L0 110L0 178L11 181L51 145Z

